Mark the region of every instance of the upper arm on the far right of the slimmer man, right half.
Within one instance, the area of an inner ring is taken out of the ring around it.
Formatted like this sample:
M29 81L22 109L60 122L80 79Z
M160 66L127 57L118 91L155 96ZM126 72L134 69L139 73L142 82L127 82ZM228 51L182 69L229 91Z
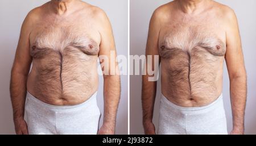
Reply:
M226 65L230 78L245 76L245 65L243 61L241 38L238 28L236 14L229 9L226 12Z

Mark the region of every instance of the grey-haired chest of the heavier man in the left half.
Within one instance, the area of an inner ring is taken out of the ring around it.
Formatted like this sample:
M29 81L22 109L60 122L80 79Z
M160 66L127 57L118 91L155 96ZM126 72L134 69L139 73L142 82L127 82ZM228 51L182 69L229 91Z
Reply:
M100 35L93 29L76 24L42 24L30 35L30 54L42 59L48 53L97 55Z

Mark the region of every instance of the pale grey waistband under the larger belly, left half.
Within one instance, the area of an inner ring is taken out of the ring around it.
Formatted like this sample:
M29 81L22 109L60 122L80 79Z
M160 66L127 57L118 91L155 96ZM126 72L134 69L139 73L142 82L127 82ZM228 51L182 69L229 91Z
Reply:
M38 98L34 97L27 91L27 99L28 101L32 102L35 105L38 105L40 107L48 108L48 109L77 109L80 107L86 107L89 105L92 105L92 103L97 105L97 91L85 102L79 103L78 105L71 105L71 106L56 106L51 105L49 103L40 101Z

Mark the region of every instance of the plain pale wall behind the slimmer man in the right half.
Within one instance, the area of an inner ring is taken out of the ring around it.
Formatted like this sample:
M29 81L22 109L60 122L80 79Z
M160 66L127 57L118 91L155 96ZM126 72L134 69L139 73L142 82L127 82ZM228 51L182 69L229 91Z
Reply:
M130 1L130 55L144 55L148 24L154 10L171 1L131 0ZM237 15L242 39L243 55L247 71L247 104L245 115L245 134L256 134L256 1L254 0L218 0L231 7ZM232 130L232 112L229 98L229 77L224 65L223 97L228 122L228 131ZM141 76L130 77L130 134L143 134L141 106ZM158 127L160 81L156 94L154 119Z

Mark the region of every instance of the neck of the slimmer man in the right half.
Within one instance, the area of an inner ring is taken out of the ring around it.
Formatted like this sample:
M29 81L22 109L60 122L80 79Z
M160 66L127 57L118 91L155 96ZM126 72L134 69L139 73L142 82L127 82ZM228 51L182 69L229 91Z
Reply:
M208 0L177 0L181 11L187 14L204 9L204 5L207 2Z

